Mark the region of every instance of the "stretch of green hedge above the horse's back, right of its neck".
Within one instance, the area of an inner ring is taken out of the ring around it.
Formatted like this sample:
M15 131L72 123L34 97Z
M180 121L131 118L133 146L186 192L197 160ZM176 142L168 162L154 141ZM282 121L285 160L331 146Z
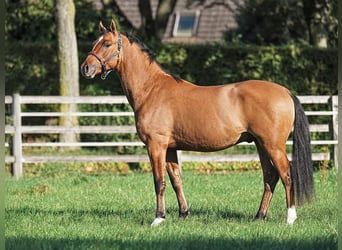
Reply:
M336 49L168 44L157 58L170 72L200 85L261 79L298 95L337 93Z

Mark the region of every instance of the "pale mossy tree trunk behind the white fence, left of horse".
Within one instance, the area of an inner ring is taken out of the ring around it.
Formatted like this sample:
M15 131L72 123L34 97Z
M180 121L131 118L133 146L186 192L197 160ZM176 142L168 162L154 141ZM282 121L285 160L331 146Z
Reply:
M79 95L79 64L75 33L75 5L73 0L56 0L58 33L59 82L61 96ZM62 104L61 112L76 112L77 104ZM78 126L74 116L62 116L61 126ZM76 142L78 134L66 132L60 135L62 142Z

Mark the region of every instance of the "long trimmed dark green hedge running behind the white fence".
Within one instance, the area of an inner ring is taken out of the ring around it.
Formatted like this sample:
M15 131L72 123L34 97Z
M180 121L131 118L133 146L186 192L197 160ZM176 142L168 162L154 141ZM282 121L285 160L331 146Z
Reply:
M81 63L91 42L78 47ZM337 49L166 44L156 55L167 71L199 85L263 79L298 95L337 93ZM56 44L6 44L5 67L7 95L58 95ZM80 90L82 95L122 94L113 73L105 81L80 76Z

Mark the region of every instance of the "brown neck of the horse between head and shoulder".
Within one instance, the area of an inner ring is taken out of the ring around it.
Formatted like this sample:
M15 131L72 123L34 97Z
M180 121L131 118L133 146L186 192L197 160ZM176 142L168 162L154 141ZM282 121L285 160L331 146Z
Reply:
M136 111L145 102L151 89L158 84L152 80L162 70L156 62L151 62L139 45L127 41L123 45L123 59L119 66L121 85L127 99Z

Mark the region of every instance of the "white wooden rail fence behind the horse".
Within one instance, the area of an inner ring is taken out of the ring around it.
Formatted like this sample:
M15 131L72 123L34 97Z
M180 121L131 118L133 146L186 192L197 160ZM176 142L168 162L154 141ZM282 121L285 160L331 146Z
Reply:
M337 114L338 114L338 98L337 96L299 96L302 104L328 104L329 110L306 111L307 116L328 116L329 122L324 124L310 124L310 131L315 133L328 133L329 139L315 140L312 139L312 145L333 145L330 152L313 153L312 159L315 161L324 161L334 159L337 167ZM144 147L139 140L135 141L110 141L110 142L29 142L23 141L26 134L62 134L65 132L75 132L78 134L116 134L116 133L136 133L134 125L111 125L111 126L73 126L63 127L58 125L22 125L24 117L39 118L50 117L58 118L61 116L76 117L99 117L99 116L133 116L132 111L126 112L23 112L22 105L32 104L127 104L125 96L80 96L80 97L61 97L61 96L13 96L5 97L5 104L11 105L12 124L6 124L5 133L12 136L11 155L7 155L6 163L13 164L13 175L21 177L23 173L24 163L39 162L143 162L148 161L147 154L144 155L73 155L73 156L29 156L23 155L24 147L118 147L118 146L138 146ZM10 120L10 119L6 119ZM247 144L247 143L244 143ZM292 144L288 141L287 144ZM10 147L10 143L6 143ZM291 158L291 154L289 154ZM183 152L181 161L187 162L234 162L234 161L258 161L256 154L189 154Z

